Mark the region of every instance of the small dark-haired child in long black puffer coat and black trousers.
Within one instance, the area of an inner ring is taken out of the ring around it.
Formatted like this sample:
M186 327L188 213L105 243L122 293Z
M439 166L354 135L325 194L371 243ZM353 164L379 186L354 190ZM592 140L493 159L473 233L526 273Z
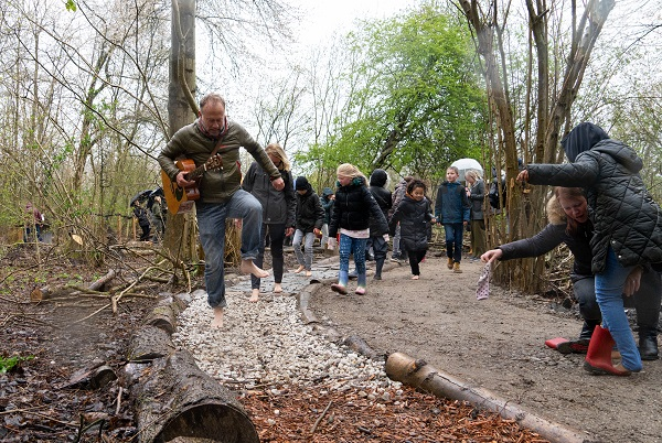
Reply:
M388 224L391 233L395 233L398 222L401 225L401 246L409 256L412 280L420 277L419 263L428 249L428 228L436 219L426 198L427 187L420 180L412 180L407 192Z

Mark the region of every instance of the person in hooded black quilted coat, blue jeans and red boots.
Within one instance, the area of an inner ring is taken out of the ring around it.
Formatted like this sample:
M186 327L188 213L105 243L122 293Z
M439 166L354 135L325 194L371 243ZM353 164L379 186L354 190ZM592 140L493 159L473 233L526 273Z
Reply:
M591 270L606 327L594 332L584 368L629 376L643 366L621 294L633 270L662 263L662 209L639 175L643 162L637 152L600 127L580 123L560 144L570 163L528 164L517 181L586 188L594 225ZM618 365L610 358L615 341L622 357Z

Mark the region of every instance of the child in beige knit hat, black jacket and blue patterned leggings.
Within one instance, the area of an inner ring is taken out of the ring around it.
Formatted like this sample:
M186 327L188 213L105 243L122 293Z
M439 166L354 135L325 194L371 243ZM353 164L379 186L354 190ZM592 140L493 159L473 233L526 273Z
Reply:
M329 249L335 247L335 236L340 233L340 271L338 283L331 289L339 294L346 294L350 273L350 253L354 255L356 266L357 295L365 294L365 242L370 237L371 217L374 218L375 233L388 241L388 224L380 205L367 190L365 175L356 166L343 163L335 171L338 182L335 204L329 225Z

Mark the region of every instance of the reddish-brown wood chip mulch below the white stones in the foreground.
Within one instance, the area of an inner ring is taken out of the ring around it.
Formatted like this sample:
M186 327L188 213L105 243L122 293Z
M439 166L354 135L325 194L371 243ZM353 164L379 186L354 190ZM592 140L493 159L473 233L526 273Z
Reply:
M261 442L547 442L513 420L408 387L253 390L239 401Z

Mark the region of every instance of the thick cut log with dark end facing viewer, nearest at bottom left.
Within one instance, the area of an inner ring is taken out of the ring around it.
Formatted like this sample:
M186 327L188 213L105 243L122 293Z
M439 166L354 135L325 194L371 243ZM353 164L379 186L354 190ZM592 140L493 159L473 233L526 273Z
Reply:
M189 352L179 350L140 366L131 391L140 443L174 439L259 443L253 422L235 396L200 370Z

